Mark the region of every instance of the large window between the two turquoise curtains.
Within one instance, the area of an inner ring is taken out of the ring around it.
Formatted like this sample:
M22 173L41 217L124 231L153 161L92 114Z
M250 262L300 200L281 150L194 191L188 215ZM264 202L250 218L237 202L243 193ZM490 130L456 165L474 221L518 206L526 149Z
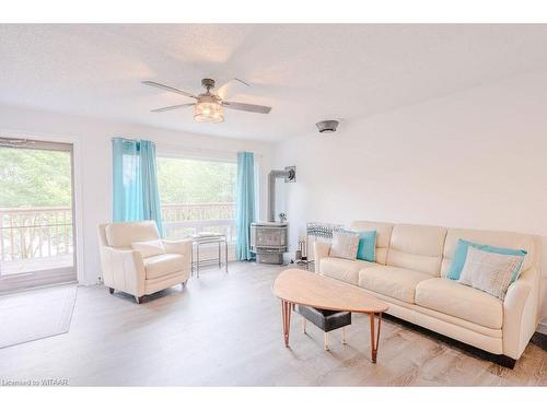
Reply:
M164 236L217 232L235 242L236 178L235 162L158 157Z

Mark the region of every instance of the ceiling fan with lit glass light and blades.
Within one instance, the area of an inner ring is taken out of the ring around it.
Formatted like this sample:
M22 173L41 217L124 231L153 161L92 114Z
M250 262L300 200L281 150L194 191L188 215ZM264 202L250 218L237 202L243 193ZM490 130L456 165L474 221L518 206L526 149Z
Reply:
M246 82L240 79L234 79L234 81L238 81L240 83L249 86ZM211 93L211 90L214 89L214 80L211 79L201 80L201 85L207 91L198 95L194 95L193 93L175 89L174 86L161 84L155 81L143 81L142 84L155 86L156 89L165 90L172 93L182 94L190 98L196 98L197 101L195 103L171 105L168 107L152 109L152 113L163 113L172 109L194 107L194 119L198 122L222 122L224 120L224 107L231 109L240 109L242 112L248 112L248 113L258 113L258 114L268 114L271 110L271 107L267 107L264 105L244 104L244 103L225 101L223 97L219 95L219 93L217 94ZM219 90L225 89L226 85L228 84L224 84Z

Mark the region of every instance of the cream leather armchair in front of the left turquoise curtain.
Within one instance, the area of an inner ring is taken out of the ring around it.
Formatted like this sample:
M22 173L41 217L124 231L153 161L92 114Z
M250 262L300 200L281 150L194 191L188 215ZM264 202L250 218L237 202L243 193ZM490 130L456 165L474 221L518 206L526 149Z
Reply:
M105 286L135 296L142 296L182 283L183 290L191 273L191 239L162 241L166 254L143 258L131 244L160 239L155 222L107 223L98 226L101 266Z

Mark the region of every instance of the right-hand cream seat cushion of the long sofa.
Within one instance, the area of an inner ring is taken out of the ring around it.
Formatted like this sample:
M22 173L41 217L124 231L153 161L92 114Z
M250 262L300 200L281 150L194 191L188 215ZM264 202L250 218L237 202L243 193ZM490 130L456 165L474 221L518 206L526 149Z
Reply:
M416 304L491 329L501 329L502 302L450 279L432 278L416 288Z

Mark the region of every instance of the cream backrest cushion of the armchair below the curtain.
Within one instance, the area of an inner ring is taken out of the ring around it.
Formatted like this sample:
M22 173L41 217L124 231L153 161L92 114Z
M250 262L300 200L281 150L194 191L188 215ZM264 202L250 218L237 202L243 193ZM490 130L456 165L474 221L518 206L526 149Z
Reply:
M105 236L108 246L123 248L133 242L159 239L160 233L154 221L117 222L106 225Z

